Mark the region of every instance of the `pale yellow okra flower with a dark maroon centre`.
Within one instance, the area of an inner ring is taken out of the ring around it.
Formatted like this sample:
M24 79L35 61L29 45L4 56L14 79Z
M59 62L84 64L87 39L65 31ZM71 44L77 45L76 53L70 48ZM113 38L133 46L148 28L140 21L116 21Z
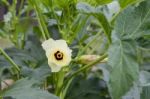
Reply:
M65 40L48 39L42 43L42 47L46 52L52 72L58 72L62 67L69 65L72 50Z

